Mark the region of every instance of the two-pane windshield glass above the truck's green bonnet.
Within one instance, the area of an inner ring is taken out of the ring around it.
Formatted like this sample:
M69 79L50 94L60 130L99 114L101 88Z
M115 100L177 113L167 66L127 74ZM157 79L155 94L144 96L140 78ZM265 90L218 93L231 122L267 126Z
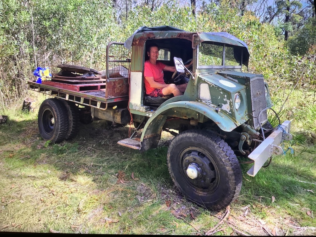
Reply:
M223 62L224 46L214 42L202 42L198 49L199 66L240 66L241 48L238 46L225 46L225 59ZM201 68L201 67L200 67Z

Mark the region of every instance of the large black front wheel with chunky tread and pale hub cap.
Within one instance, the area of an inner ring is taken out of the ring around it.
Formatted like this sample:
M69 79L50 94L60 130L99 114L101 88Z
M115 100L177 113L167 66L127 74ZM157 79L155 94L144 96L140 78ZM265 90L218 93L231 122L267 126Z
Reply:
M236 155L220 137L202 130L177 135L167 153L168 170L180 193L208 209L221 210L239 195L242 174ZM190 178L187 168L195 170Z

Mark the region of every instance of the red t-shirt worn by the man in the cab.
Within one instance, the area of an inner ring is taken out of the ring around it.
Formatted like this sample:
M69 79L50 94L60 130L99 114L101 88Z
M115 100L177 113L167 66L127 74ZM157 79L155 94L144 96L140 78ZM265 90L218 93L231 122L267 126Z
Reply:
M148 77L154 77L155 82L159 82L161 84L166 84L163 80L163 69L166 67L165 64L156 61L156 65L149 62L149 60L145 61L144 65L144 76ZM150 87L149 82L147 80L144 80L145 82L145 89L146 94L150 94L153 92L156 88Z

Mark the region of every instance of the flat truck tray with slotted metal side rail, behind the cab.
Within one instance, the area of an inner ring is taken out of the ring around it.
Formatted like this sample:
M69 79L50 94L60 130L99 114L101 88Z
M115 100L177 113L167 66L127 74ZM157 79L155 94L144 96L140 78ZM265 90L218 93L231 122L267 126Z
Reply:
M34 81L27 81L27 84L29 85L30 90L103 110L105 110L108 105L115 105L119 102L128 101L128 95L106 97L106 88L99 90L73 91L58 88L56 86L40 84Z

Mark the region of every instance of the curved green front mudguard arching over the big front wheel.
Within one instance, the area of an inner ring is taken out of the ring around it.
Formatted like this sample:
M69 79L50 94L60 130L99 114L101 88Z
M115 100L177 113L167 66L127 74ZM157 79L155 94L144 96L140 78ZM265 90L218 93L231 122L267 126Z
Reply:
M178 114L178 116L177 116ZM181 114L181 116L179 116ZM199 114L214 121L223 131L232 131L236 125L227 115L216 111L215 108L196 101L176 101L160 106L148 119L141 140L141 151L155 148L158 145L161 129L167 116L182 117L198 120Z

